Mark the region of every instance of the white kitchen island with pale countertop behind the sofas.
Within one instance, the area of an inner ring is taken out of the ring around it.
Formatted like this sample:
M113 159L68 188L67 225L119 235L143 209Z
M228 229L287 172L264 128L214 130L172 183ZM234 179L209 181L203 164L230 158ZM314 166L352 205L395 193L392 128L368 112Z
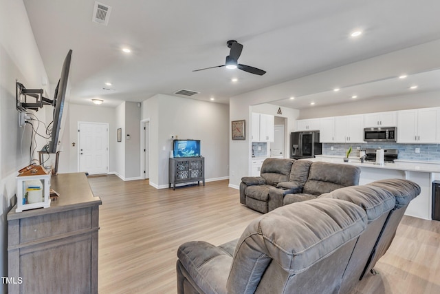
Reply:
M417 162L411 160L395 160L395 163L375 165L374 162L360 162L359 158L349 158L344 162L343 156L316 156L313 161L324 161L355 165L361 168L359 185L387 178L404 178L417 182L421 193L412 200L406 209L407 216L432 219L432 181L440 179L440 162Z

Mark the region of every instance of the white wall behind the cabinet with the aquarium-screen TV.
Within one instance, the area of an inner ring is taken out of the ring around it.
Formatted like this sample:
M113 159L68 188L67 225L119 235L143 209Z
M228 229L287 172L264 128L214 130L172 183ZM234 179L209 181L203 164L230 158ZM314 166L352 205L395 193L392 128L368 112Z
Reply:
M201 140L206 180L228 178L228 105L158 94L142 104L142 119L146 118L150 118L151 185L168 187L171 135Z

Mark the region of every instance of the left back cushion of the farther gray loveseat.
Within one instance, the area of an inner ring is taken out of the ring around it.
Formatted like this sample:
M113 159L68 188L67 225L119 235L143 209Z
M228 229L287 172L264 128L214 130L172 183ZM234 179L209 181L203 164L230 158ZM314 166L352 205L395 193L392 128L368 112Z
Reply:
M261 177L265 178L267 185L275 186L278 182L289 179L293 159L266 158L261 166Z

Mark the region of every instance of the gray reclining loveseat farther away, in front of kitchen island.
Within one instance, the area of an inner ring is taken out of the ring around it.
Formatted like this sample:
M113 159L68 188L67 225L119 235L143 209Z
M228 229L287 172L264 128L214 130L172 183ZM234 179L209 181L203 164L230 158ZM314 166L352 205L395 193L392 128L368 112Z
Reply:
M322 193L359 184L360 168L347 164L267 158L261 176L243 177L240 202L267 213Z

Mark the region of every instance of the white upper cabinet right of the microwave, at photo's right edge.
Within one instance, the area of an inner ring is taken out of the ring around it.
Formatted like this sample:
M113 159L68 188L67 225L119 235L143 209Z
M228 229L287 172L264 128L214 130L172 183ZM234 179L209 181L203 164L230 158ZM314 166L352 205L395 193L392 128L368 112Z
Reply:
M440 107L397 113L397 143L439 143Z

